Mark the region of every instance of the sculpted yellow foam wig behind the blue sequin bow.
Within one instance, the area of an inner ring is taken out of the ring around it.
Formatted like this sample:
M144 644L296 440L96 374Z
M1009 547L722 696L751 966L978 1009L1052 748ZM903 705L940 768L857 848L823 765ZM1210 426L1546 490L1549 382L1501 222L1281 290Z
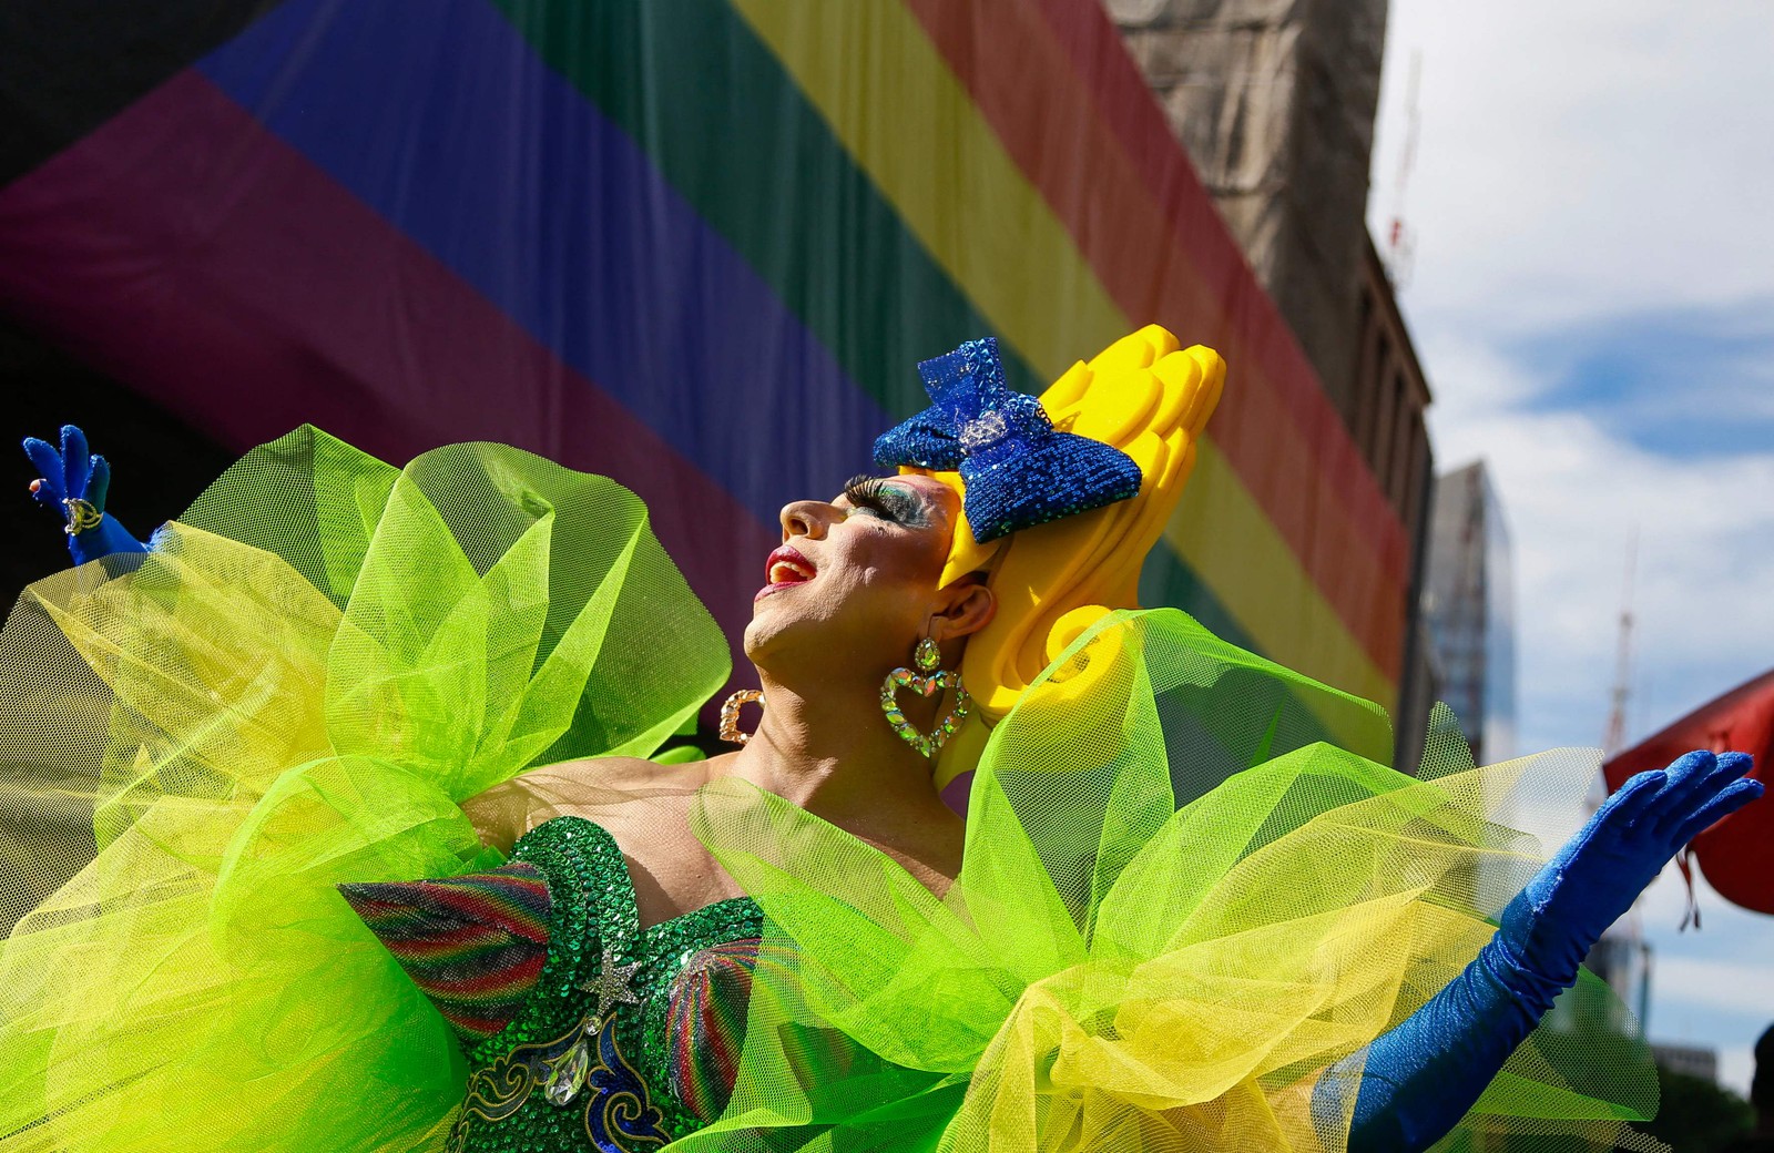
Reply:
M988 545L960 520L942 584L988 571L997 616L967 640L962 681L974 711L937 759L938 788L977 763L992 726L1068 644L1109 612L1139 607L1139 569L1181 497L1224 381L1219 353L1180 348L1166 328L1148 325L1071 365L1041 394L1054 427L1134 458L1139 495ZM924 472L965 495L956 472ZM1080 678L1077 690L1087 681Z

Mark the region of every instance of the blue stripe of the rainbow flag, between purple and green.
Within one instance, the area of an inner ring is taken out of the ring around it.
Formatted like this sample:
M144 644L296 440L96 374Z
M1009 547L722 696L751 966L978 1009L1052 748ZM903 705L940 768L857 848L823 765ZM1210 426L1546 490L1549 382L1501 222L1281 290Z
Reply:
M289 0L199 69L765 523L892 424L483 0Z

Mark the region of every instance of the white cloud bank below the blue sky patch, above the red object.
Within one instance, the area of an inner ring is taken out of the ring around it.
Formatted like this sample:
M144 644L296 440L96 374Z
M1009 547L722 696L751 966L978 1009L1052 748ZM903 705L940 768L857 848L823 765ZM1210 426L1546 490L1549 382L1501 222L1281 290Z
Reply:
M1439 458L1483 456L1510 523L1524 750L1602 738L1634 529L1639 734L1774 663L1774 452L1671 459L1511 403L1533 374L1495 353L1432 341L1426 362Z

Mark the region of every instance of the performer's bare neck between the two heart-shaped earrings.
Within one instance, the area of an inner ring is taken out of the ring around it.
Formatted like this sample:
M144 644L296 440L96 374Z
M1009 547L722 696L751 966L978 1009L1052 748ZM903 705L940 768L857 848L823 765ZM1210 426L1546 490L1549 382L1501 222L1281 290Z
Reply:
M786 683L759 669L765 711L733 773L839 827L940 807L931 763L882 717L880 685L807 678ZM907 701L908 711L914 702ZM928 731L919 708L914 722Z

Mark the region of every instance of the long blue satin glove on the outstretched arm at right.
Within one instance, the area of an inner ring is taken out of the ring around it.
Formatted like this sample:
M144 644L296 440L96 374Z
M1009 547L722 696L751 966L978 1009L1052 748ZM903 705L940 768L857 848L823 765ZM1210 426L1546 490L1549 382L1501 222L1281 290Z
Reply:
M1632 777L1510 901L1497 935L1448 988L1332 1068L1315 1107L1334 1119L1359 1071L1350 1153L1416 1153L1472 1107L1577 967L1664 864L1762 796L1742 752L1689 752Z

